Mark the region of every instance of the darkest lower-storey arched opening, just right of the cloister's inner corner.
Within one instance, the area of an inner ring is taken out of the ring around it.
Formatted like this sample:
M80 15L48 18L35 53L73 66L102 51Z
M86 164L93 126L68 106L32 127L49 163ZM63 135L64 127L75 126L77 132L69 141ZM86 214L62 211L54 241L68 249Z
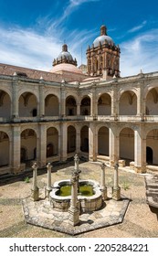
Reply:
M80 150L89 153L89 127L87 125L80 130Z

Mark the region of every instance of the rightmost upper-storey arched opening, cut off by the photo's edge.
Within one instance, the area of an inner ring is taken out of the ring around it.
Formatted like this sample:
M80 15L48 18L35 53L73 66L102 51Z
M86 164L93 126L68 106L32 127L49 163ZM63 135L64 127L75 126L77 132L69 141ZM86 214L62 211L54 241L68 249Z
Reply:
M158 87L153 88L147 94L146 115L158 115Z

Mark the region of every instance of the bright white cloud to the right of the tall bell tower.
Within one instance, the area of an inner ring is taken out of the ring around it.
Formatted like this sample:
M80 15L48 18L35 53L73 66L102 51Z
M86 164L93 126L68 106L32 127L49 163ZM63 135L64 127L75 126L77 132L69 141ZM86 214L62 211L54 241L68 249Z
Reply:
M121 76L153 72L158 69L158 29L121 44Z

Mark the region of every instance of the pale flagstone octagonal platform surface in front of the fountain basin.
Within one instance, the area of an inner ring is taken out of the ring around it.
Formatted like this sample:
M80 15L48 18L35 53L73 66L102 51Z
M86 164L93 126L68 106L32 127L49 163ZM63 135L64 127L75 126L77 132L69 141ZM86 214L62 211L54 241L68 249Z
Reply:
M94 229L109 227L123 221L130 200L106 200L103 207L97 211L82 213L79 225L73 227L68 221L68 212L59 212L52 208L47 199L34 202L28 197L23 200L26 222L29 224L52 229L69 235L77 235Z

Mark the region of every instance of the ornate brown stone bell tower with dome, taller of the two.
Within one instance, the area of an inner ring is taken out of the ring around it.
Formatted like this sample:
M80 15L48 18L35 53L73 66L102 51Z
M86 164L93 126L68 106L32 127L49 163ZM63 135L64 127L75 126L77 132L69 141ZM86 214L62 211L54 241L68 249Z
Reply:
M88 74L105 80L120 77L120 53L119 46L107 35L107 27L102 25L100 36L87 49Z

